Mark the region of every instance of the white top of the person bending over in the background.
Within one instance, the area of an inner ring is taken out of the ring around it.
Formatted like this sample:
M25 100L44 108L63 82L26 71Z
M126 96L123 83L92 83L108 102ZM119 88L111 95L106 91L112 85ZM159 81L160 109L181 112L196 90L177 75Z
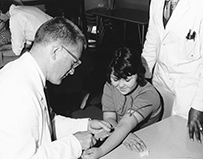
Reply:
M9 9L9 28L14 54L20 55L25 43L34 41L37 29L46 21L52 19L37 7L12 4Z

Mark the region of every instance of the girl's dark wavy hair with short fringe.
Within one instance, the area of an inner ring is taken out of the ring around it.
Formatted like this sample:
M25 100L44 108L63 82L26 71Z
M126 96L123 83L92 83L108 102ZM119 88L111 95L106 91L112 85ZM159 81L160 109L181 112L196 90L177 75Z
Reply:
M109 64L107 70L107 81L111 83L111 74L113 73L119 79L127 79L128 76L137 74L137 83L140 86L146 84L145 67L142 64L141 55L132 48L122 47L115 51L114 58Z

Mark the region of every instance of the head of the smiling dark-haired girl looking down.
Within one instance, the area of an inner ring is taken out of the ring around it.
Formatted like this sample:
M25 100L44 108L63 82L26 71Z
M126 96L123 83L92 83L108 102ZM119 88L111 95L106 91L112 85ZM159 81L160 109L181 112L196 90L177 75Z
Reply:
M119 48L109 64L107 81L123 95L130 94L137 85L144 86L145 68L139 52L127 47Z

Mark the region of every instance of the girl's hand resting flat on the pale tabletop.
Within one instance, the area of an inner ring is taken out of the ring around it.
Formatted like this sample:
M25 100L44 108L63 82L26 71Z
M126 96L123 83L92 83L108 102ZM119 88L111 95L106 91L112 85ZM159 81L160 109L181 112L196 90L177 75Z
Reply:
M145 143L134 133L128 135L123 145L131 151L143 152L147 149Z

